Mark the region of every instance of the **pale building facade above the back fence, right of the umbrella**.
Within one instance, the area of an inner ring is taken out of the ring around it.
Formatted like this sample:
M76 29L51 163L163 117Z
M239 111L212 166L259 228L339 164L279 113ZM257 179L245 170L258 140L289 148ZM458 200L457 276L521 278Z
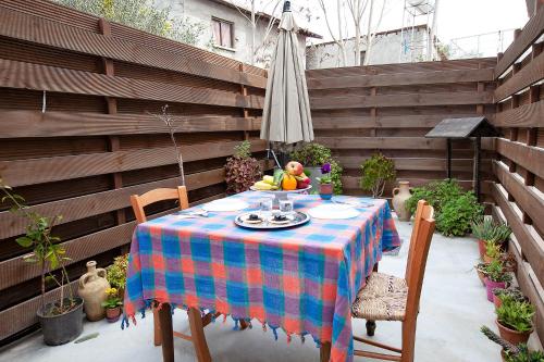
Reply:
M369 64L409 63L426 60L430 29L418 25L404 29L376 33L370 53ZM355 39L345 40L346 66L355 64ZM361 64L367 57L367 37L361 37ZM436 49L434 49L436 51ZM308 70L343 66L338 46L334 41L310 45L306 48Z

